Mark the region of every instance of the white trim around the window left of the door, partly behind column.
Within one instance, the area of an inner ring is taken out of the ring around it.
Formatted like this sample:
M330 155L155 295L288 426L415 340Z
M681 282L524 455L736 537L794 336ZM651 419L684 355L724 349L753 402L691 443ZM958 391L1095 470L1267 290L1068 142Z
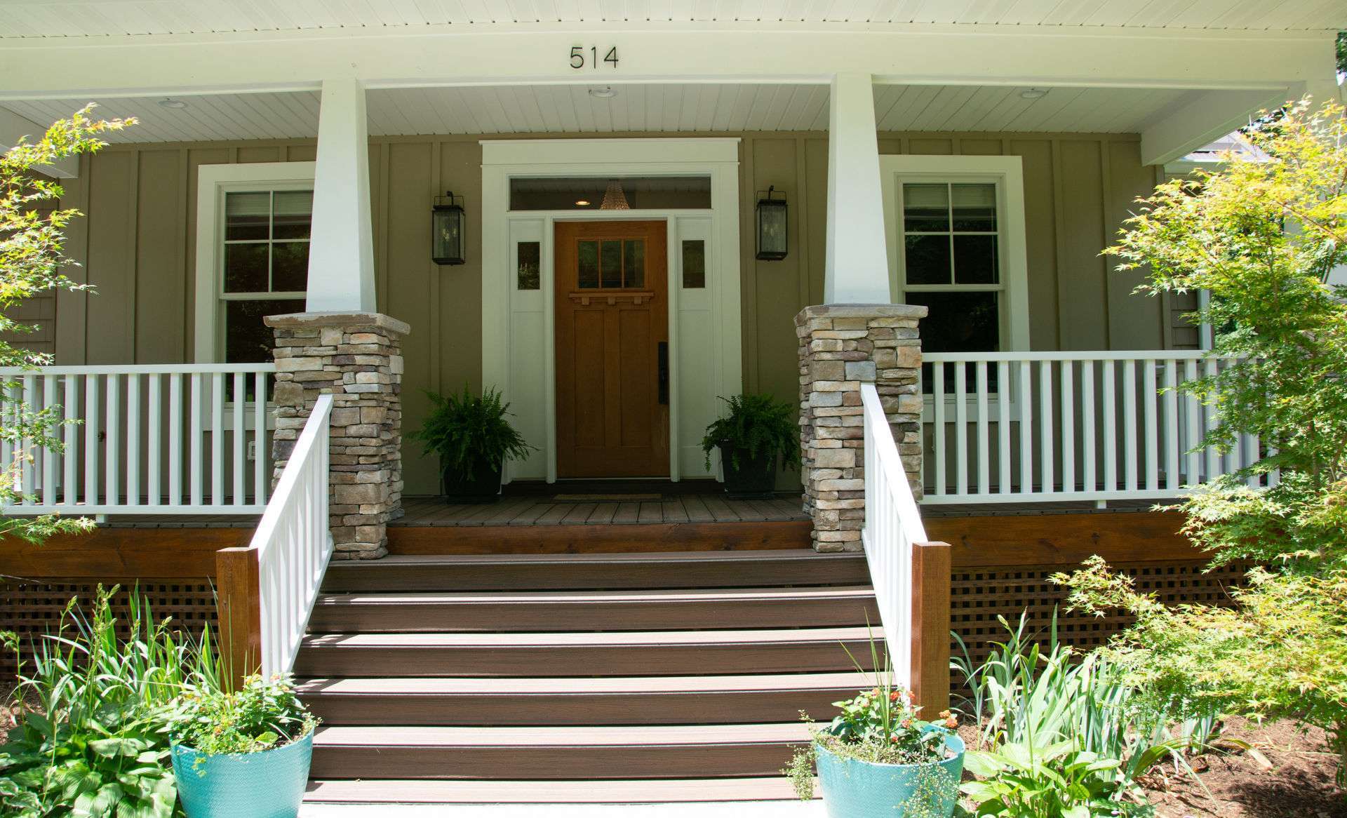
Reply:
M314 162L202 164L197 168L197 290L193 360L217 364L224 357L225 194L232 191L307 190Z

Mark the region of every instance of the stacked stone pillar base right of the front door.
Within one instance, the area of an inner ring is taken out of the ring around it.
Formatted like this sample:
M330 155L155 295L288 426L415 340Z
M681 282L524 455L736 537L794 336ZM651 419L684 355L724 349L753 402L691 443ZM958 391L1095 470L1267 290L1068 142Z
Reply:
M921 496L921 340L927 309L822 305L795 317L800 338L800 476L819 551L859 551L865 523L861 384L873 383L913 493Z

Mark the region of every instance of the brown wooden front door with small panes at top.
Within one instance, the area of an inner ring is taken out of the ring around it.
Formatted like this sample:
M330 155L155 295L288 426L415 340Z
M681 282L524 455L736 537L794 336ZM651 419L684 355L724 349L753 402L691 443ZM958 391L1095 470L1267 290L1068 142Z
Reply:
M556 474L669 473L663 221L556 224Z

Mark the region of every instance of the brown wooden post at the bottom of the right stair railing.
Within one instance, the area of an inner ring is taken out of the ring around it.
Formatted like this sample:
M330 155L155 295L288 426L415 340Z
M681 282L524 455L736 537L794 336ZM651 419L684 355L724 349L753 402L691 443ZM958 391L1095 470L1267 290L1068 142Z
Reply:
M924 718L950 709L950 543L912 546L912 695Z

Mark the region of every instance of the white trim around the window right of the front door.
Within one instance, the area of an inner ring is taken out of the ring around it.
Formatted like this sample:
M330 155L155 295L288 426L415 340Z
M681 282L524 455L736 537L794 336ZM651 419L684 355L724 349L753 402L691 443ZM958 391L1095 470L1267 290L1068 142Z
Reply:
M1029 263L1024 226L1024 162L1020 156L882 155L880 183L884 194L884 229L889 253L889 292L902 302L902 255L897 212L901 181L995 182L1001 244L1001 350L1029 349ZM924 286L923 291L939 290ZM962 287L950 286L956 291Z

